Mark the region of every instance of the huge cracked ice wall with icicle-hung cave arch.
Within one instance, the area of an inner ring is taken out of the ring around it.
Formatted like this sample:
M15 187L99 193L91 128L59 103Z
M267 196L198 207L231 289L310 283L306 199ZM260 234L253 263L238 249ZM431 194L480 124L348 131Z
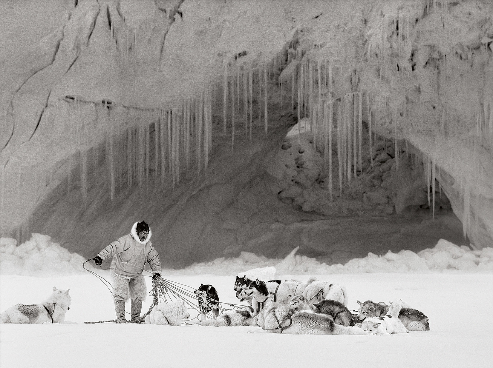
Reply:
M168 268L491 247L492 15L489 0L2 1L0 235L87 259L144 220Z

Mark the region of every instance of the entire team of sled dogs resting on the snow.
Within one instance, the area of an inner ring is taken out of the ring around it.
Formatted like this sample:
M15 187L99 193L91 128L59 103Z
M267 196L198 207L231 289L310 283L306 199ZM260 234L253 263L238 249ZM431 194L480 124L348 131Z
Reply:
M428 318L402 300L360 302L358 315L347 307L346 290L319 281L250 280L236 277L234 290L249 305L219 314L219 297L212 285L195 291L202 326L260 326L269 333L325 335L387 335L429 330ZM53 288L40 304L16 304L0 314L0 323L63 323L70 309L69 290ZM207 318L211 313L212 318ZM160 302L145 317L145 323L180 326L190 318L184 301Z

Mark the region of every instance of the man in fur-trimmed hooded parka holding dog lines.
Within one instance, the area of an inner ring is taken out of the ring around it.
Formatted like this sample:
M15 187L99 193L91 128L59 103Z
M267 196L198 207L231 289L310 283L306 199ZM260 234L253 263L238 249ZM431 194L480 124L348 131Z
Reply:
M142 323L142 301L147 295L145 280L142 276L145 262L149 263L154 275L161 276L161 261L156 249L150 242L152 235L149 225L144 221L136 222L130 234L124 235L109 243L105 249L94 258L96 265L114 256L111 261L111 284L115 299L116 323L127 323L125 318L125 303L129 298L131 304L131 322Z

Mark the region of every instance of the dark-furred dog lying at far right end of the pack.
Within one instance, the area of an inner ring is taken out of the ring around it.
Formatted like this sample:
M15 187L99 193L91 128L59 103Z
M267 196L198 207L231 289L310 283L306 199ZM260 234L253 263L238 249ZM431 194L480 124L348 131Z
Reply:
M384 302L375 303L373 301L357 301L358 319L364 320L367 317L383 317L387 314L396 316L409 331L428 331L429 321L422 312L417 309L403 307L403 301L398 300L387 305ZM398 310L396 312L396 310Z

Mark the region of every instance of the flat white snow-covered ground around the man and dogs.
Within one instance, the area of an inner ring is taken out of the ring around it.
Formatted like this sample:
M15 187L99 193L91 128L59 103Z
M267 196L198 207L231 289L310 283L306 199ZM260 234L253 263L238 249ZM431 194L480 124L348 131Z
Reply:
M49 237L37 239L50 242ZM2 242L7 241L3 238ZM4 249L1 250L3 255ZM387 336L279 335L262 333L259 327L194 324L84 324L115 318L111 294L89 272L59 269L56 275L55 268L50 268L45 273L38 269L37 277L2 274L1 311L16 303L41 302L51 294L53 286L70 288L72 304L66 321L72 323L0 325L0 366L489 367L493 361L489 312L493 304L492 258L491 248L470 251L441 241L419 255L409 251L385 257L369 255L337 267L317 265L315 260L294 252L284 260L244 253L238 259L219 259L163 272L168 280L192 288L201 283L212 284L220 300L227 303L238 303L233 291L236 274L301 281L317 276L346 287L350 310L357 308L357 300L388 302L401 298L429 318L430 331ZM108 270L90 269L109 280ZM25 270L19 273L26 274ZM151 278L146 281L150 289ZM149 297L142 310L146 311L151 302ZM129 310L129 303L127 307ZM198 312L189 312L189 323L197 323L193 318Z

